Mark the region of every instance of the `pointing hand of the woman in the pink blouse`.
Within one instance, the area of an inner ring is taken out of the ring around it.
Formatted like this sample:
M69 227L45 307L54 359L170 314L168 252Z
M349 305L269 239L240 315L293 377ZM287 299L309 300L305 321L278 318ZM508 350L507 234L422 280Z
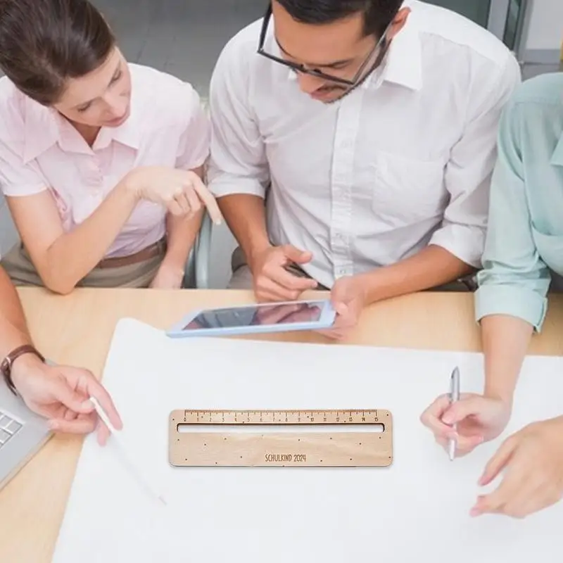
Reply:
M205 205L215 224L222 221L215 197L191 170L160 166L135 168L125 177L125 186L135 198L160 203L172 215L195 217Z

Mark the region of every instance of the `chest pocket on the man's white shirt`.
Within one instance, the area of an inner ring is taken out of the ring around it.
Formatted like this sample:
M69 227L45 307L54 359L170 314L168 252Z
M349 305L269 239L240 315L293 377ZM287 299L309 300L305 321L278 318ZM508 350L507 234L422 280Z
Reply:
M372 210L400 226L442 215L448 201L442 160L415 160L379 152L374 164Z

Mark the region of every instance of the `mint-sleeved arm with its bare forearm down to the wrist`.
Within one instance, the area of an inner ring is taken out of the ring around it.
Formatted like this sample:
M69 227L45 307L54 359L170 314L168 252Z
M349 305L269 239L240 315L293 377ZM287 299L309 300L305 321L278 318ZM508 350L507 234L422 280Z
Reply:
M551 281L531 231L520 131L517 108L509 106L500 124L483 270L475 295L485 394L510 404L533 331L543 325Z

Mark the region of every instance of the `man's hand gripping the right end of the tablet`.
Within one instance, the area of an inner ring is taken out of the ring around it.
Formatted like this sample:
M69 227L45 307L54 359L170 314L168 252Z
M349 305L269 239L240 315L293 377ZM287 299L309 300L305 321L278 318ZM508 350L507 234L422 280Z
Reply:
M319 331L320 334L334 340L345 339L358 325L366 299L360 276L337 279L331 291L331 303L336 311L336 320L331 329Z

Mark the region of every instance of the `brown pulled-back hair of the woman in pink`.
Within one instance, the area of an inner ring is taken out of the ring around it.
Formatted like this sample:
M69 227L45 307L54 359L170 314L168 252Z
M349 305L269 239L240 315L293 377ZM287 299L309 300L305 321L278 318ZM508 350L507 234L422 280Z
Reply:
M87 0L0 0L0 68L30 98L51 106L69 78L96 70L115 37Z

